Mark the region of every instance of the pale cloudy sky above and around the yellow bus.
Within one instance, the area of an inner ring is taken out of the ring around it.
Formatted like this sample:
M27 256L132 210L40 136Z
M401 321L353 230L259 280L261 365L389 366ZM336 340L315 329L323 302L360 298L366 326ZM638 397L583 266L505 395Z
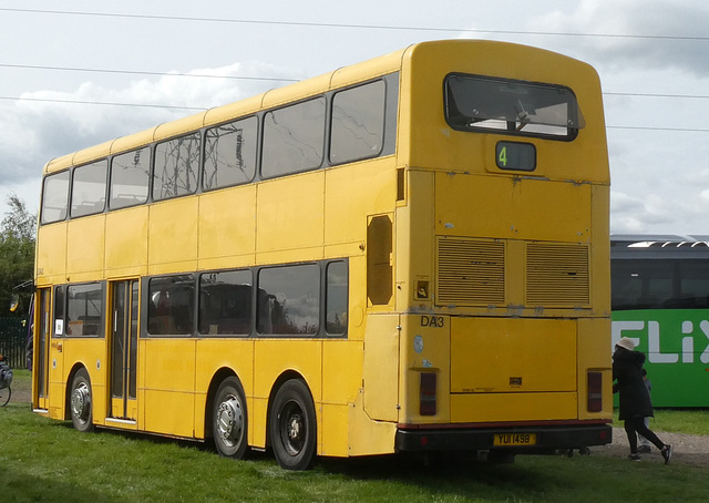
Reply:
M54 157L441 39L594 65L610 230L709 235L709 2L697 0L0 0L0 213L10 194L37 212Z

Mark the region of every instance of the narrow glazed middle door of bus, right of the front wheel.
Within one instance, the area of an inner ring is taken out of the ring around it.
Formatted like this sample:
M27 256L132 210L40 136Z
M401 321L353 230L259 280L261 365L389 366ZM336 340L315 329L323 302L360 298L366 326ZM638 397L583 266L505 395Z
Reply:
M137 417L138 280L112 284L111 410L109 417L135 421Z

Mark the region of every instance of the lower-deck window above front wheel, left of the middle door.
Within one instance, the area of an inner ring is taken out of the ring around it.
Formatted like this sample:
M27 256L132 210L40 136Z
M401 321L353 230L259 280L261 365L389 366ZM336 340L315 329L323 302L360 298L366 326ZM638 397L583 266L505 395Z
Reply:
M100 283L66 287L66 335L103 335L103 286Z

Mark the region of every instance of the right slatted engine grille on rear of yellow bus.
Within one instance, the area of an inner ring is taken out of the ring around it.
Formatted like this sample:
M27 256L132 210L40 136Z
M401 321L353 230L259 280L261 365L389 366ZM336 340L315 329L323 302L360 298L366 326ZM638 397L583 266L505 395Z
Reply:
M526 279L526 306L588 306L588 246L527 243Z

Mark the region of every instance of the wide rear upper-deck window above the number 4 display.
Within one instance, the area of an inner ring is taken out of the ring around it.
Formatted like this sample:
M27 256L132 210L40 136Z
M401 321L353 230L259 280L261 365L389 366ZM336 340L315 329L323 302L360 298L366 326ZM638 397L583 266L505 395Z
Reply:
M573 91L477 75L445 79L445 119L455 130L573 140L585 126Z

